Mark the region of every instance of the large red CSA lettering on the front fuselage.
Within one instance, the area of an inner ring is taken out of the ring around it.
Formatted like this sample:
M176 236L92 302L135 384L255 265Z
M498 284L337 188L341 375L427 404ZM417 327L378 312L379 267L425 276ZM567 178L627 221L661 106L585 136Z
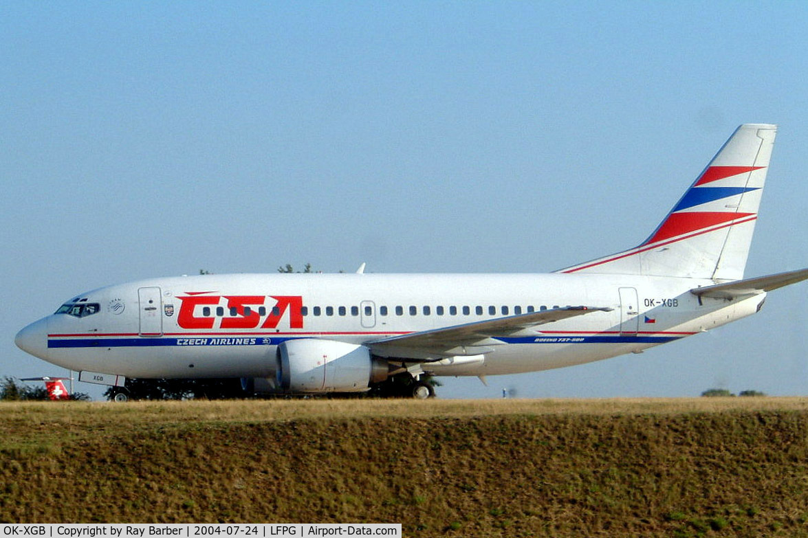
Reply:
M186 292L178 296L177 323L183 329L213 329L218 320L221 329L275 329L289 313L289 328L303 328L303 297L265 295L208 295L213 292ZM270 301L267 304L267 299ZM274 300L274 302L273 302ZM207 308L206 308L207 307ZM220 309L217 313L217 309ZM229 317L222 314L227 313ZM263 322L262 322L263 321Z

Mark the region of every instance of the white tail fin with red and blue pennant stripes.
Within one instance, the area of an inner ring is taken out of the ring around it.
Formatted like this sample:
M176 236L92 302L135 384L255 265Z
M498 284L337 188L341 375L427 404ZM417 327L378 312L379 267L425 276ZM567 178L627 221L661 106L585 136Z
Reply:
M741 125L645 242L558 272L743 279L776 132Z

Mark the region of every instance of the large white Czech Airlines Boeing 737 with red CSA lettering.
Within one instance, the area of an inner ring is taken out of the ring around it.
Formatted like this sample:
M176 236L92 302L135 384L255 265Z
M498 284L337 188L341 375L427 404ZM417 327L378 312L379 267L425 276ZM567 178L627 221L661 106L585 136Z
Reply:
M120 400L127 377L425 398L425 376L485 382L640 353L747 317L767 292L808 278L808 268L743 276L775 135L776 125L741 125L645 241L552 273L366 274L363 264L140 280L74 296L15 343Z

